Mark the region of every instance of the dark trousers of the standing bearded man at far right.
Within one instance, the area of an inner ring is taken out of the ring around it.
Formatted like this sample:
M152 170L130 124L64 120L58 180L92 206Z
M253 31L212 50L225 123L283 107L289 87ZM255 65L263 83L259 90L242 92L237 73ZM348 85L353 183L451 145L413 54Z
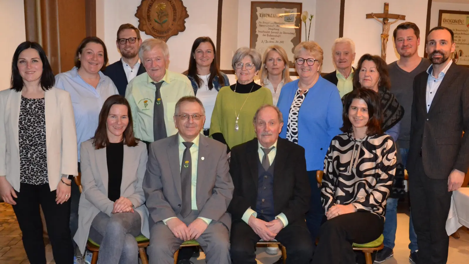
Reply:
M444 264L448 259L446 219L452 193L447 179L428 178L422 158L417 160L416 171L409 173L409 194L420 263Z

